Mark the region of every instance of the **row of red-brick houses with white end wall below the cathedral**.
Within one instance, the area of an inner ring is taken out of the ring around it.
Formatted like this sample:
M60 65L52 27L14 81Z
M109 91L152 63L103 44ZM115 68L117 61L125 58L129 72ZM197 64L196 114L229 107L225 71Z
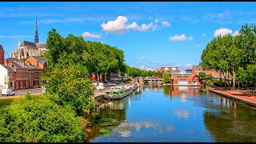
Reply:
M3 49L1 49L3 51ZM0 59L4 58L1 54ZM18 58L6 58L0 64L0 89L7 88L5 78L9 77L10 88L13 90L36 88L42 84L41 76L47 66L46 60L42 57L30 56L26 61Z

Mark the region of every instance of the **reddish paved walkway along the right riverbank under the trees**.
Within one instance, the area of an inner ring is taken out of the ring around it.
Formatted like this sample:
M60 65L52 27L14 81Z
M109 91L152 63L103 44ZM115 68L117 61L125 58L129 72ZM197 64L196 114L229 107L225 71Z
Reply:
M213 87L208 87L207 89L213 93L221 94L228 98L233 98L235 100L238 100L239 102L244 102L246 104L249 104L250 106L256 106L256 94L251 94L242 90L233 91L233 90L224 90L222 88L213 88Z

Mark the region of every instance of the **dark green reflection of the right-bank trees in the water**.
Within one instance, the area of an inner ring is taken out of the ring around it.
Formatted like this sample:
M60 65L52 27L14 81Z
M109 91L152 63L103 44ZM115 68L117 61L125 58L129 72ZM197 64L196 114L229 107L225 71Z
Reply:
M256 142L255 110L238 102L230 103L228 98L221 98L220 105L207 106L210 110L203 113L206 130L216 142Z

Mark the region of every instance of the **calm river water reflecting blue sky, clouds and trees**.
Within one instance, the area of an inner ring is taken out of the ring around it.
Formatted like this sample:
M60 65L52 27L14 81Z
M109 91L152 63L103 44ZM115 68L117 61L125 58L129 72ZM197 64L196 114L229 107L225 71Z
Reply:
M256 110L191 86L102 101L90 142L256 142Z

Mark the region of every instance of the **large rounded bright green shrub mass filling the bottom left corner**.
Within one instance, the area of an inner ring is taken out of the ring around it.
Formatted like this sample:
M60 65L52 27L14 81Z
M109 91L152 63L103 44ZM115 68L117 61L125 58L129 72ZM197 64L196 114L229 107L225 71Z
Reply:
M83 142L82 124L74 111L41 95L15 99L4 111L0 142Z

